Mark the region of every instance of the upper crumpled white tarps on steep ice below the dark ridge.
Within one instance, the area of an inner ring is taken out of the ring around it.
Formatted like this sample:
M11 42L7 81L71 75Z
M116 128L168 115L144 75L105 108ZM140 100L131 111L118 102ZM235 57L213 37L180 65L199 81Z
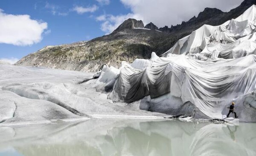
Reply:
M247 9L241 16L229 20L220 26L204 25L183 37L166 53L169 54L201 54L209 59L231 59L256 54L256 6Z

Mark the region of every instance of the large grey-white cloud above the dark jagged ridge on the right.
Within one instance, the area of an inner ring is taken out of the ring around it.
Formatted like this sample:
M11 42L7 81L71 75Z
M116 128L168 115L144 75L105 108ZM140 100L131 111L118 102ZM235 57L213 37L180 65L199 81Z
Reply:
M222 11L239 6L243 0L121 0L132 13L143 17L144 24L153 22L158 27L180 24L197 16L204 8Z

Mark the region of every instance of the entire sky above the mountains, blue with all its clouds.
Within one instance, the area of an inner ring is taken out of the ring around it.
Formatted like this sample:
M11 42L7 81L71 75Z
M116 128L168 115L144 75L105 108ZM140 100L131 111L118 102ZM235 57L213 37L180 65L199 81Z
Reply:
M242 1L1 0L0 59L14 61L47 45L91 40L128 18L171 26L197 16L205 7L229 11Z

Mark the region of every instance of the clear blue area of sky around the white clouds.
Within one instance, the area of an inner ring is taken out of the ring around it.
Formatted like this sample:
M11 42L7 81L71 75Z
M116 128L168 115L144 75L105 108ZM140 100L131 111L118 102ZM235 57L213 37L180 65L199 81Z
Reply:
M76 11L70 11L74 6L93 5L98 6L93 12L78 14ZM96 0L1 0L0 9L5 14L28 14L33 20L47 22L47 30L44 31L47 33L42 34L43 38L39 43L22 46L0 43L0 58L18 59L47 45L73 43L102 36L106 32L101 31L101 23L95 20L97 16L108 12L113 15L125 14L129 11L118 0L109 5Z

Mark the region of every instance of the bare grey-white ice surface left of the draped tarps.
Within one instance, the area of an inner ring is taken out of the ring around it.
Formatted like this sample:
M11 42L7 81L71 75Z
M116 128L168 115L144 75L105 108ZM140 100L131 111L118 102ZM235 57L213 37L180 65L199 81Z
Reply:
M108 77L104 72L108 72ZM106 94L96 91L97 87L102 89L102 84L113 83L118 74L118 69L104 67L98 79L79 84L84 79L92 78L93 74L0 65L0 125L43 124L104 117L162 119L163 114L142 111L137 103L132 107L127 104L118 105L107 99Z

